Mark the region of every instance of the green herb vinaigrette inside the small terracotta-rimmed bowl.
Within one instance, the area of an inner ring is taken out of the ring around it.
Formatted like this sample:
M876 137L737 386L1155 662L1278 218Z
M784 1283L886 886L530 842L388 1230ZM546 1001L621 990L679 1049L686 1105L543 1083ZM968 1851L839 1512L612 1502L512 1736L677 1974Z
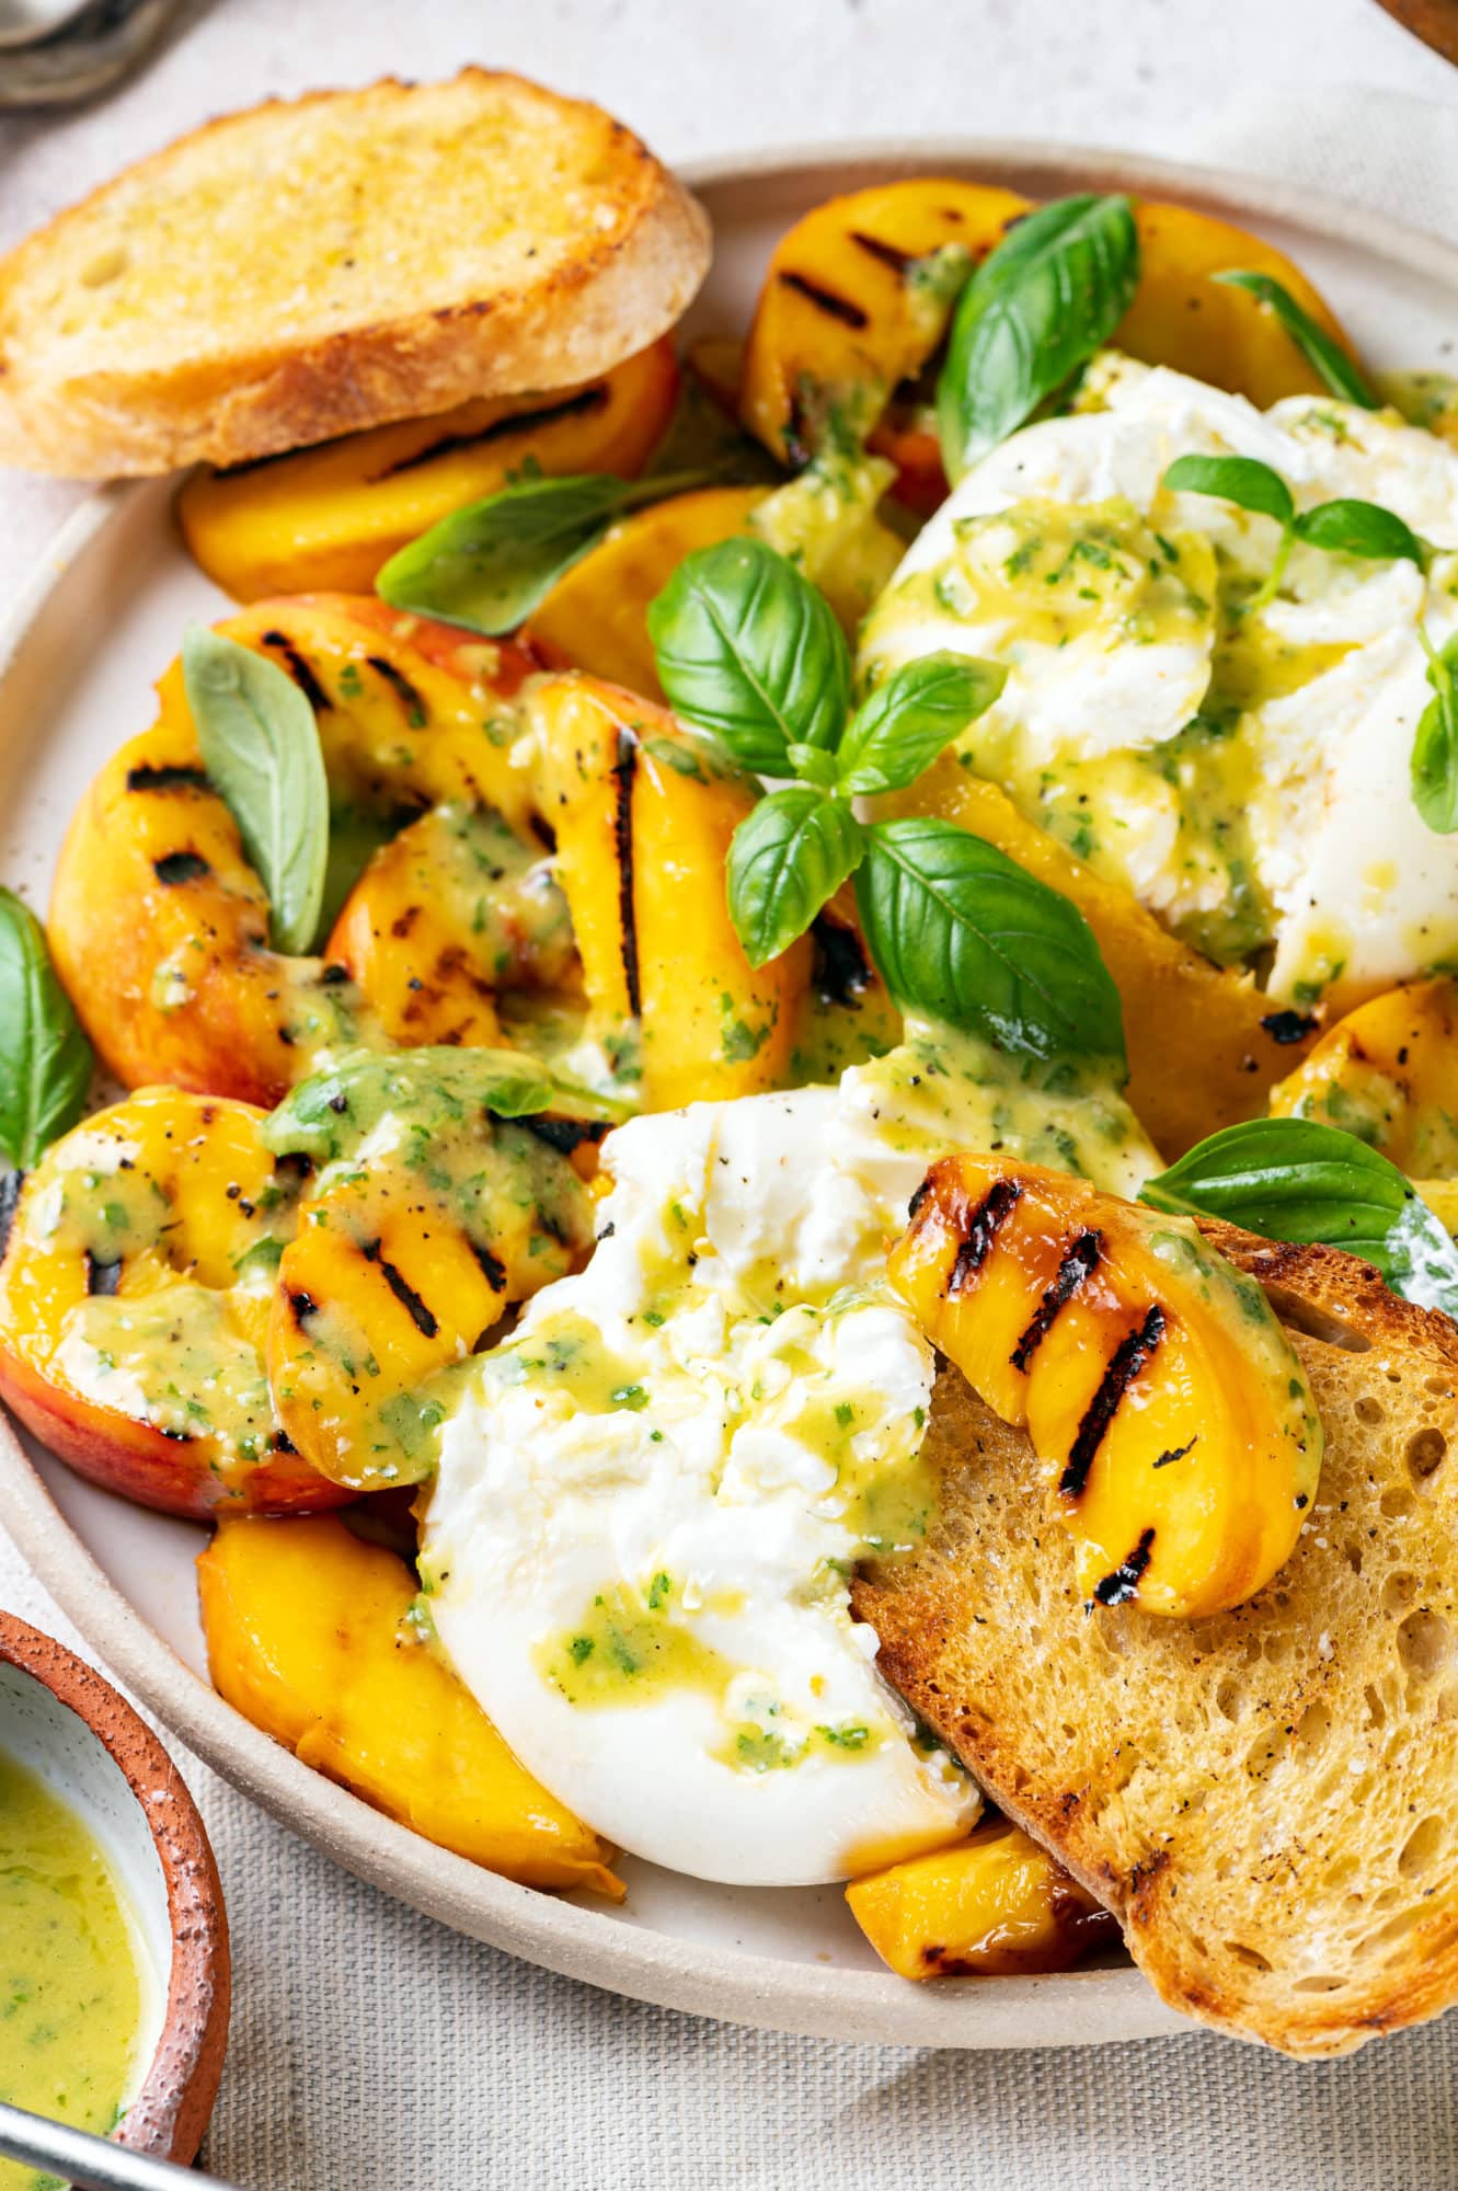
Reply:
M0 2099L105 2134L138 2073L144 1992L105 1851L0 1751ZM0 2160L0 2191L61 2191Z

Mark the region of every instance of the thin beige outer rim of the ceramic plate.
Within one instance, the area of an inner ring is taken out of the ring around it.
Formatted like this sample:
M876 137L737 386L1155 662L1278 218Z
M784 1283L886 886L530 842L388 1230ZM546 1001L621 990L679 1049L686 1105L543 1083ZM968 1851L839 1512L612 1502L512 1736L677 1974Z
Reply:
M1305 186L1106 147L981 136L852 138L681 162L679 173L696 191L760 186L768 195L810 186L817 175L832 188L845 186L832 182L841 171L873 182L939 167L990 182L1119 186L1241 219L1274 219L1434 276L1458 294L1458 245L1390 215ZM136 497L155 489L155 480L112 482L70 513L0 611L0 679L70 565ZM690 1941L519 1886L372 1810L225 1705L96 1562L4 1411L0 1518L88 1645L204 1764L357 1878L466 1937L609 1994L808 2038L952 2049L1090 2046L1193 2029L1134 1968L950 1978L933 1989L889 1972L821 1968ZM1097 2018L1075 2014L1095 2005Z

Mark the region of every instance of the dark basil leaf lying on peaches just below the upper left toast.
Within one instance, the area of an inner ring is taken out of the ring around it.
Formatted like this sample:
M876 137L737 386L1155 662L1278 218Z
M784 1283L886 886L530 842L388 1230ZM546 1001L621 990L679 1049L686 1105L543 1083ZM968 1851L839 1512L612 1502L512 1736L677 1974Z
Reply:
M438 616L499 638L541 607L563 572L595 548L615 517L703 486L707 473L617 480L585 471L560 480L517 480L453 511L392 554L374 592L392 609Z

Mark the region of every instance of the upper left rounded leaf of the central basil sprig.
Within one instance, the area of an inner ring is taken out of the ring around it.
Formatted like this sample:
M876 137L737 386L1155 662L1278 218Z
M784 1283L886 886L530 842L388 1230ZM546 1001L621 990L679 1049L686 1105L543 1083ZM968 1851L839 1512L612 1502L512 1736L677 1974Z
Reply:
M788 776L790 747L834 752L852 664L825 596L764 541L696 548L648 609L659 684L755 776Z

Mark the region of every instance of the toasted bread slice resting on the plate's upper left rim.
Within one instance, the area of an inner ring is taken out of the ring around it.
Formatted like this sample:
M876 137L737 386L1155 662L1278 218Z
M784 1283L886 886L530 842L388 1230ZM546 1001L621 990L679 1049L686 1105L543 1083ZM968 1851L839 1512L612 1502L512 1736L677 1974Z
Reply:
M672 326L703 208L521 77L271 101L0 263L0 462L171 471L563 388Z

